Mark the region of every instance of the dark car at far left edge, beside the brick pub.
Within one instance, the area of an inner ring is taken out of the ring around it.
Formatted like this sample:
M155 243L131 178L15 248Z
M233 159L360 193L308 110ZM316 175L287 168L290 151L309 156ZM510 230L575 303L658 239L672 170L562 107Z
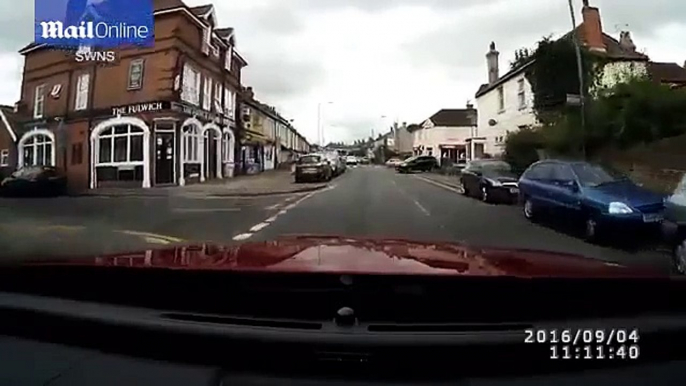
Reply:
M0 184L0 194L11 197L50 197L66 191L67 177L52 166L21 168Z

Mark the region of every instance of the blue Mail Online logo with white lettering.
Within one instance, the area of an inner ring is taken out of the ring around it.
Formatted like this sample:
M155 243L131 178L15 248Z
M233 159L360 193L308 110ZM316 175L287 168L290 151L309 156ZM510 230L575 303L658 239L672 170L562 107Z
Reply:
M153 0L35 0L35 42L112 49L155 43Z

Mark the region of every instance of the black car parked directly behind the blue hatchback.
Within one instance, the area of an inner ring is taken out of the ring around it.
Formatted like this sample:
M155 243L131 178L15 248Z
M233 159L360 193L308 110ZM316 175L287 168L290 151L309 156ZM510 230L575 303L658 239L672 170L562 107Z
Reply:
M478 197L483 202L515 202L519 197L517 175L504 161L472 161L460 176L466 196Z

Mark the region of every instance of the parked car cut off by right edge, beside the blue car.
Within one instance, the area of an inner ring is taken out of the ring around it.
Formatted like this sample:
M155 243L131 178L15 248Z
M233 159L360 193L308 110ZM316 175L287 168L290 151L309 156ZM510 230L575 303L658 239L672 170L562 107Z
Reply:
M665 201L665 220L672 225L669 235L672 257L677 272L686 275L686 174L674 194Z

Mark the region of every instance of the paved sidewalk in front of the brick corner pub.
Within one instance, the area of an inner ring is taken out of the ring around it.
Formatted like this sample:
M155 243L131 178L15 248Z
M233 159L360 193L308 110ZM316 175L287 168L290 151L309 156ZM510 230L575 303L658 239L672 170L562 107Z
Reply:
M106 197L253 197L277 194L310 192L325 187L326 183L296 184L290 171L267 171L252 176L237 176L204 183L143 188L99 188L79 196Z

